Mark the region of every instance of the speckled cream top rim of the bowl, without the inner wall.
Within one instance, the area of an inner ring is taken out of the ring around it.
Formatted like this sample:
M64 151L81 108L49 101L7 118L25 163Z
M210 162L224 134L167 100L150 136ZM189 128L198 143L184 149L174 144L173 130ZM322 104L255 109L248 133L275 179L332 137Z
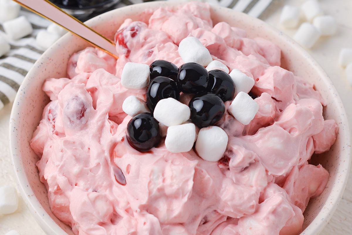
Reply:
M134 4L134 5L114 9L110 12L99 15L87 21L87 24L90 26L93 26L95 24L98 24L103 19L112 18L113 15L120 15L125 12L130 12L130 13L138 12L146 8L174 6L177 4L180 4L180 3L173 2L173 1L158 1L158 2L146 2L142 4ZM256 18L249 17L246 14L243 14L240 12L234 12L232 9L229 9L229 8L224 8L219 6L211 6L211 7L212 7L212 12L221 11L222 13L224 13L225 21L226 21L226 14L236 15L241 20L250 21L251 24L253 24L253 27L258 27L258 28L264 27L265 31L272 33L274 35L273 37L277 37L277 36L282 37L282 40L287 42L287 44L291 46L291 49L296 50L297 53L301 53L310 64L315 66L314 69L320 75L323 82L328 85L331 93L335 96L335 99L336 99L335 101L338 104L340 104L340 106L337 107L337 110L340 113L340 116L341 116L340 121L344 125L344 128L342 130L340 128L339 135L342 134L344 138L344 141L343 141L343 143L345 143L344 157L346 159L344 160L343 163L341 163L341 166L339 168L341 170L340 175L338 176L337 180L334 181L334 185L332 186L333 189L331 191L332 192L331 194L334 193L333 197L329 195L327 199L327 203L316 215L314 220L301 233L301 235L317 235L323 230L323 228L331 218L333 212L337 208L337 205L342 197L342 193L347 183L348 172L351 164L351 135L350 135L350 129L348 127L347 115L342 105L341 98L338 95L337 90L332 84L331 80L328 78L327 74L323 71L323 69L318 65L318 63L312 58L312 56L309 55L309 53L306 50L304 50L300 45L295 43L290 37L286 36L282 32L275 29L274 27L269 26L263 21ZM43 228L43 230L47 234L56 234L56 235L67 235L67 233L57 223L55 223L54 220L52 220L52 218L50 217L50 215L48 215L48 213L46 213L46 211L43 209L38 199L34 196L33 190L30 186L31 183L29 182L25 172L21 170L23 169L24 166L21 163L22 153L20 152L20 146L18 145L18 142L17 142L18 135L20 134L19 131L17 131L17 127L18 127L17 120L19 120L20 118L18 110L20 110L22 107L21 99L25 97L26 87L31 82L29 77L31 76L33 77L37 73L37 71L40 70L40 64L45 63L45 60L47 59L48 55L50 55L50 51L53 48L59 47L62 44L67 43L71 37L74 37L74 36L72 36L70 33L65 34L50 49L48 49L43 53L43 55L33 65L33 68L28 72L14 100L14 104L13 104L13 108L10 116L10 129L9 129L10 156L11 156L13 169L15 172L15 180L18 184L18 188L21 193L21 196L23 197L31 214L34 216L34 218L39 223L39 225Z

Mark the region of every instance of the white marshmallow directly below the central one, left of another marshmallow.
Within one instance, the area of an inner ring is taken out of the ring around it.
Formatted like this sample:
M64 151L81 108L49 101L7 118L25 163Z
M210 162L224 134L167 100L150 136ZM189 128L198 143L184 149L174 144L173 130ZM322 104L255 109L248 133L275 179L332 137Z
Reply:
M185 123L170 126L165 138L165 146L171 153L183 153L192 149L196 137L196 126Z

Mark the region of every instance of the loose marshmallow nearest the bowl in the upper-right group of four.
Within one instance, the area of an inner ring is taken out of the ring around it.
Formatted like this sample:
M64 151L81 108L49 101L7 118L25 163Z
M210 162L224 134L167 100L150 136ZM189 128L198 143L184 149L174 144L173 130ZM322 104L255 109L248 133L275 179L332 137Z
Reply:
M304 47L312 47L320 37L320 31L314 25L304 22L296 31L293 39Z

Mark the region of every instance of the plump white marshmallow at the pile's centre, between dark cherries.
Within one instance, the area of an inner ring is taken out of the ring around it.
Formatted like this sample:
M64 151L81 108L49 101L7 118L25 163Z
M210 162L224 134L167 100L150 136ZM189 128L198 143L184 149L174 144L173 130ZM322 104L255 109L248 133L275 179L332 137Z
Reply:
M186 104L167 98L156 104L153 115L158 122L170 127L187 121L191 116L191 110Z

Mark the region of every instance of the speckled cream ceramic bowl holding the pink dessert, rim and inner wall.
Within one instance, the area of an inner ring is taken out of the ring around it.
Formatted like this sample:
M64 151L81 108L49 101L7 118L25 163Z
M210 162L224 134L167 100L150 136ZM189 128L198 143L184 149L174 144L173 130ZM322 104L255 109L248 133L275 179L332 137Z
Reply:
M175 2L149 2L115 9L87 22L88 25L108 38L113 38L125 18L136 19L145 8L175 5ZM214 24L226 21L232 26L243 28L249 37L263 37L282 49L282 66L315 84L327 101L325 119L334 119L339 124L339 134L329 152L319 155L313 162L320 163L330 173L323 193L311 200L304 212L301 235L317 235L327 224L335 211L345 189L350 169L351 140L347 116L341 99L331 80L314 59L282 32L263 21L224 7L212 6ZM29 141L42 117L49 98L42 91L42 84L48 77L65 77L69 57L88 44L71 34L59 39L28 72L20 86L13 104L10 122L10 152L17 184L21 195L34 218L47 234L73 234L71 228L59 221L51 212L47 192L39 181L36 162L39 160L31 150Z

